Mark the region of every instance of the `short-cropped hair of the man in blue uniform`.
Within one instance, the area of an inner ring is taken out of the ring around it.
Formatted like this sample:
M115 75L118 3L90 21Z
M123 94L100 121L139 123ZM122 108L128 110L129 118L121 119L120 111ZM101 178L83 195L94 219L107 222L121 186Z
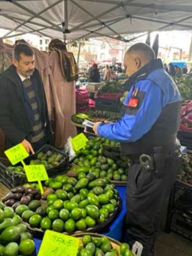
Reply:
M135 45L132 45L127 50L126 54L132 52L142 52L150 60L155 59L155 52L150 46L146 45L146 43L136 43Z

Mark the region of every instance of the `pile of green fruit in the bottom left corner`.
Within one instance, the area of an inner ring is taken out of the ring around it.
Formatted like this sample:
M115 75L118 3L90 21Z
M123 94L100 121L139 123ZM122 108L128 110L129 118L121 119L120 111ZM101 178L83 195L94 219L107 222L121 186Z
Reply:
M27 226L21 223L20 216L11 207L0 205L0 255L32 256L35 243Z

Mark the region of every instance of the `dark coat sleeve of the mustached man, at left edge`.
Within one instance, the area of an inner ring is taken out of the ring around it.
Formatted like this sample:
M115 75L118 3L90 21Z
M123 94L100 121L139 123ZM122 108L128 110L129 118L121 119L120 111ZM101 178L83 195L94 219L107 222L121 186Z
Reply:
M25 139L26 135L11 122L9 97L5 86L0 84L0 127L12 143L18 144Z

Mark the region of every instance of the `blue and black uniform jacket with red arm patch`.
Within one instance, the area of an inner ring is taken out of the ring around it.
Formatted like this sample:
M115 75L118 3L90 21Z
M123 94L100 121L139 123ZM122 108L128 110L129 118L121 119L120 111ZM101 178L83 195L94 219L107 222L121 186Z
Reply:
M99 125L99 136L121 142L126 155L152 153L154 146L173 148L180 123L181 96L163 68L152 60L133 74L132 85L116 123Z

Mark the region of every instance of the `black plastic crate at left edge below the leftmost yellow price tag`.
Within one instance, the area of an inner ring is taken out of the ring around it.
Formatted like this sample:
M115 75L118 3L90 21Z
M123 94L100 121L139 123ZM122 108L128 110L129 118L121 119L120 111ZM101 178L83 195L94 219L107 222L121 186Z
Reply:
M0 179L9 189L15 188L27 182L26 175L9 171L6 167L12 166L9 160L0 158Z

